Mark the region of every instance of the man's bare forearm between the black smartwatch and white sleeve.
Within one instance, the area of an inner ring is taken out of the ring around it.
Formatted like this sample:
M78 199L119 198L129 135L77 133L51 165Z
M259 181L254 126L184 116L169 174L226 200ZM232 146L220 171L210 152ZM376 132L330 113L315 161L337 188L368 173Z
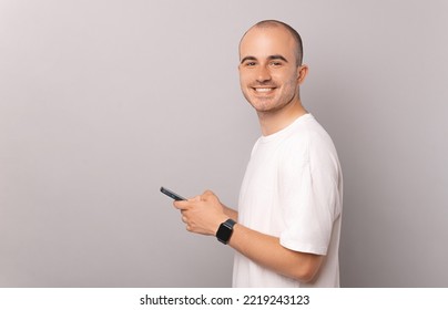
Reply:
M303 282L314 278L323 260L322 256L289 250L278 238L238 224L228 245L256 264Z

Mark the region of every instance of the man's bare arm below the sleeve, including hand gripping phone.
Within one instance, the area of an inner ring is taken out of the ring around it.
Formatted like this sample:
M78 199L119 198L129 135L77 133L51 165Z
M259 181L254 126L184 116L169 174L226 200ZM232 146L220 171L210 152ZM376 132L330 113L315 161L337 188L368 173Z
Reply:
M221 223L228 217L236 220L237 211L221 204L212 192L186 202L174 202L182 220L191 232L215 236ZM299 281L310 281L317 273L323 256L289 250L279 239L264 235L241 224L234 226L228 244L253 261Z

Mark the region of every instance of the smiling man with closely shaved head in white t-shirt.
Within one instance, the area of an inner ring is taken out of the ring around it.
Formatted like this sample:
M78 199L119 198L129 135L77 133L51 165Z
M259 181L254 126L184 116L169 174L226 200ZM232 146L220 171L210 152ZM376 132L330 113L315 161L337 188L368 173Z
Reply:
M238 211L210 190L174 206L186 229L236 250L234 287L338 287L343 179L336 149L303 107L302 40L262 21L240 43L240 80L262 136L242 184Z

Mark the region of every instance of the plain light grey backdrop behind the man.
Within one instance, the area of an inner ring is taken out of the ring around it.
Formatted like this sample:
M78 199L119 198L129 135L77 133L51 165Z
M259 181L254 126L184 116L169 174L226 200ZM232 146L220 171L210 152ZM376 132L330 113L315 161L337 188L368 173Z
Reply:
M237 43L302 33L345 177L345 287L448 286L447 1L0 1L0 286L228 287L161 185L236 206Z

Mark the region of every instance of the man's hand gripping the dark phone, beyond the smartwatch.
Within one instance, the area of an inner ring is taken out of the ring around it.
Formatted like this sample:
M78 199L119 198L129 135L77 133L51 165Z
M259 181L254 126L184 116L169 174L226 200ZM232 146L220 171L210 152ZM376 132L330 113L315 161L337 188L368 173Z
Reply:
M228 218L220 199L211 190L189 200L174 202L173 205L181 210L186 230L195 234L215 236L220 225Z

